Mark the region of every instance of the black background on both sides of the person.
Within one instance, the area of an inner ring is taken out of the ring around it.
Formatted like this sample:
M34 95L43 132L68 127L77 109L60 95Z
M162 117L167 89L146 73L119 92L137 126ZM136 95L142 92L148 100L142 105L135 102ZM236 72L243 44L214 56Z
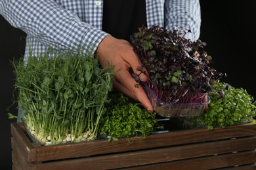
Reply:
M224 82L236 88L244 88L256 97L253 83L256 61L256 1L202 0L200 3L200 39L207 42L205 50L213 57L215 69L227 74ZM9 119L7 112L16 114L17 110L16 104L12 105L15 77L10 61L24 54L24 36L24 32L12 27L0 16L0 169L11 169L12 165L10 127L16 120Z

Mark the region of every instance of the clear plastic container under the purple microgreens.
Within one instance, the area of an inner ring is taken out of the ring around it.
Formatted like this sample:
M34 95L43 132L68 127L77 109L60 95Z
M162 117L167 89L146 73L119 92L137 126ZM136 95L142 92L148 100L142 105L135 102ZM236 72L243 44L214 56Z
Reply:
M207 102L205 103L164 103L152 93L147 93L154 111L165 118L184 117L184 116L200 116L205 110L205 107L211 102L207 95Z

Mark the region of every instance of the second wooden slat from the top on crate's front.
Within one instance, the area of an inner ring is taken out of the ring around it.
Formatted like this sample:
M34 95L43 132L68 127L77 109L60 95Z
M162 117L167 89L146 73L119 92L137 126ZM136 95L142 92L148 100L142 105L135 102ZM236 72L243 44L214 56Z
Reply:
M241 150L255 150L256 137L247 137L236 140L223 140L207 143L187 144L182 146L169 146L166 148L157 148L151 150L141 150L137 152L124 152L121 154L108 154L104 156L93 156L89 158L80 158L75 160L54 161L49 163L37 164L38 169L114 169L121 167L133 167L139 165L163 163L167 161L186 160L190 158L202 158L215 154L231 153ZM245 163L256 162L255 151L250 152ZM250 158L250 159L249 159ZM234 160L232 160L234 161ZM231 161L231 163L232 163ZM242 163L236 162L236 163ZM219 164L219 162L213 162Z

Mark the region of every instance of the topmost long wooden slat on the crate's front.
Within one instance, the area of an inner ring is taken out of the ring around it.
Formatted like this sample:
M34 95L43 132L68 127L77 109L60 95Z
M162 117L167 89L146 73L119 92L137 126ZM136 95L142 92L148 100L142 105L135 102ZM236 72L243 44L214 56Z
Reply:
M20 128L20 124L12 124L14 130ZM22 131L20 129L20 131ZM27 138L24 134L20 134L18 131L16 134L19 139ZM127 139L120 141L112 141L108 143L106 140L89 141L83 143L72 144L58 144L53 146L39 146L30 143L28 146L30 150L30 156L28 161L47 161L47 160L60 160L73 157L86 157L98 154L125 152L127 150L143 150L150 148L158 148L163 146L174 146L177 144L188 143L200 143L204 141L228 139L234 137L246 137L256 135L256 125L244 124L239 126L230 126L226 128L215 128L213 130L208 129L189 129L182 131L173 131L169 133L149 135L146 139L141 137L129 139L133 141L133 144L128 145ZM26 143L28 144L28 139ZM35 150L33 150L35 149ZM36 154L33 154L33 152ZM24 154L29 154L28 151L23 150ZM33 156L32 156L33 155Z

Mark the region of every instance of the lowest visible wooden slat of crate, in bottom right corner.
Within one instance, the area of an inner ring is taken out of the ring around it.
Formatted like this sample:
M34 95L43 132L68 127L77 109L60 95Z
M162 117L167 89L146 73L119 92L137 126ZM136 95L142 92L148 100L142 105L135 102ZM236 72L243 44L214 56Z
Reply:
M155 163L151 165L143 165L138 167L128 167L123 170L148 170L148 169L256 169L256 152L255 150L249 152L238 152L236 154L223 154L220 156L207 156L203 158L193 158L181 161L169 161L165 163ZM249 164L249 165L246 165ZM236 165L239 165L236 167ZM232 167L233 166L233 167ZM226 168L224 168L226 167Z

